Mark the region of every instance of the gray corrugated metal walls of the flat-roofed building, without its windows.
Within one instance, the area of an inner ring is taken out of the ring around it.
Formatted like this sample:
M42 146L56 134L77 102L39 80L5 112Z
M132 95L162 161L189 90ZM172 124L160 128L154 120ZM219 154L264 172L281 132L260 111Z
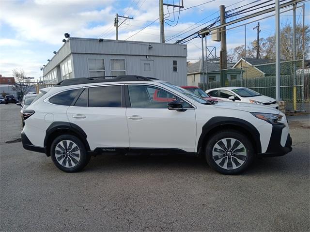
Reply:
M70 38L44 68L44 76L59 67L70 54L73 77L89 77L89 58L105 60L106 76L111 75L110 59L125 59L127 75L142 75L141 60L153 60L155 78L176 85L187 84L186 45ZM177 72L173 72L173 60L178 62Z

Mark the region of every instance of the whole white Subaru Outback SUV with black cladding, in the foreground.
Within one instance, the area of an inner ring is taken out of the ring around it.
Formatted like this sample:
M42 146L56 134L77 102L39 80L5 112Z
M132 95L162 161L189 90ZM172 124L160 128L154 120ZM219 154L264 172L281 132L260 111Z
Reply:
M51 156L63 171L97 154L204 155L224 174L255 157L292 151L285 115L249 103L209 102L150 77L74 78L42 89L23 111L25 149Z

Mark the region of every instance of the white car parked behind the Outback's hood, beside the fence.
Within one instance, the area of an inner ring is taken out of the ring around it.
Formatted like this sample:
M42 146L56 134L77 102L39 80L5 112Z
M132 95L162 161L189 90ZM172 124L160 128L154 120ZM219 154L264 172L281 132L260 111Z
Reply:
M207 90L205 93L223 101L247 102L279 109L276 99L244 87L221 87Z

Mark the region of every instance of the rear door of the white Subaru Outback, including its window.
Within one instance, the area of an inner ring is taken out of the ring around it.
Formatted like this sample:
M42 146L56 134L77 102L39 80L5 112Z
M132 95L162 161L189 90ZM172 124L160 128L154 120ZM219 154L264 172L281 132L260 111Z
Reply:
M124 104L124 85L89 87L68 108L67 115L71 123L85 131L91 150L128 148Z

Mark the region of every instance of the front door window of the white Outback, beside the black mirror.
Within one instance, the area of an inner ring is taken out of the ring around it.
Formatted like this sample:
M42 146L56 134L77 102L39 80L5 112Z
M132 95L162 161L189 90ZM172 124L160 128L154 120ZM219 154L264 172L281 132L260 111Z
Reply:
M130 104L132 108L167 108L168 102L178 100L183 108L192 108L181 98L165 90L144 85L128 85Z

